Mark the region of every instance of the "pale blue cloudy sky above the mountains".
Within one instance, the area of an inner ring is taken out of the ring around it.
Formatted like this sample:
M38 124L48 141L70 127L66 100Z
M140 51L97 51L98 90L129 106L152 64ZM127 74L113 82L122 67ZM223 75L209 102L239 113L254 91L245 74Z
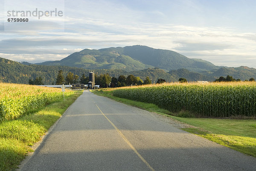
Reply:
M255 0L0 0L0 4L2 58L37 63L86 48L139 44L215 65L256 68ZM22 11L28 22L8 22ZM44 13L40 19L39 11Z

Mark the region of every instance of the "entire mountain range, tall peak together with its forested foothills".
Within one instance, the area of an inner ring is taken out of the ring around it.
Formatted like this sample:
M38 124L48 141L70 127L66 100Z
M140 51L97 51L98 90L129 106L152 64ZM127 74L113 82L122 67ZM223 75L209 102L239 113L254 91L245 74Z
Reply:
M29 79L41 76L44 84L55 83L59 70L73 72L81 77L89 70L96 75L108 73L111 77L130 74L152 83L162 78L168 82L186 78L188 81L214 81L227 75L241 80L256 78L256 69L249 67L219 67L201 59L190 59L177 52L148 46L125 46L105 49L84 49L60 61L39 64L15 62L0 58L0 81L28 84Z

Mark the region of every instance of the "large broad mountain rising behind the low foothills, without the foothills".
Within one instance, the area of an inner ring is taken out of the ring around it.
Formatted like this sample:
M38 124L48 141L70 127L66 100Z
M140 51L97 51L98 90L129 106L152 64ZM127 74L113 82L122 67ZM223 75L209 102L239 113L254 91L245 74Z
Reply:
M60 61L46 61L38 65L70 66L84 69L120 69L125 71L161 68L166 71L186 68L202 72L220 67L202 59L191 59L171 50L154 49L148 46L111 47L84 49Z

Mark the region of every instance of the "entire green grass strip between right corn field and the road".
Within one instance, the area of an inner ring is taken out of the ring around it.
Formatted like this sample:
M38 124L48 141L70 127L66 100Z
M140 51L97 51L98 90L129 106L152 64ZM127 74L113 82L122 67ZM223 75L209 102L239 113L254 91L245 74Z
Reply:
M94 91L99 96L139 107L151 112L169 116L180 122L193 125L196 128L183 128L183 130L209 139L218 144L232 148L241 153L256 157L256 120L255 119L209 119L186 118L193 116L191 113L171 113L159 108L155 104L148 104L112 96L112 91ZM182 116L182 117L177 117Z

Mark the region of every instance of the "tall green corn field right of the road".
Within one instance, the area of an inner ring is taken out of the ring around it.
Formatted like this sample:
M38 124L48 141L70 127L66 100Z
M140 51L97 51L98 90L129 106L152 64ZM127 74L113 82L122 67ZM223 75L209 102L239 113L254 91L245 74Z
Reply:
M200 116L256 116L256 83L171 84L113 90L113 96Z

